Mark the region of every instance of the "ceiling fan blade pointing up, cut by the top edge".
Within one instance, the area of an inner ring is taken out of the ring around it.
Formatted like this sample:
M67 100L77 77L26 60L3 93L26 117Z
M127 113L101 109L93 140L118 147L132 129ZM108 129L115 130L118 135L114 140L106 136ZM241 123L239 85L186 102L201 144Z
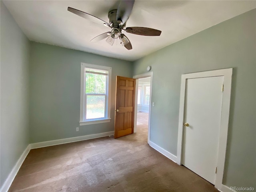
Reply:
M133 8L134 0L121 0L120 4L117 8L116 20L121 20L120 25L123 25L129 18L132 8Z

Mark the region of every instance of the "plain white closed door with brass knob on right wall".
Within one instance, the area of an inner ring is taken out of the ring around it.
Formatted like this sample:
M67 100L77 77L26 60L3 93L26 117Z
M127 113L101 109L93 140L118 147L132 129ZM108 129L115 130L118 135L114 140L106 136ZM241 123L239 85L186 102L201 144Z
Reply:
M186 80L182 164L215 184L223 76Z

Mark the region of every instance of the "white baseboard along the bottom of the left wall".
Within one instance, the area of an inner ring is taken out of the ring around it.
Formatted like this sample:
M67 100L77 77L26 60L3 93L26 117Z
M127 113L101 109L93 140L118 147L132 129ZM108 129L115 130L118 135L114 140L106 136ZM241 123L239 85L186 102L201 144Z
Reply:
M28 155L29 151L30 151L30 144L28 144L27 148L24 150L24 152L21 154L20 158L16 162L15 166L12 168L12 171L8 175L7 179L5 180L3 186L0 190L1 192L7 192L9 190L14 178L16 177L16 174L20 170L20 167L21 167L22 163L24 162L26 156Z

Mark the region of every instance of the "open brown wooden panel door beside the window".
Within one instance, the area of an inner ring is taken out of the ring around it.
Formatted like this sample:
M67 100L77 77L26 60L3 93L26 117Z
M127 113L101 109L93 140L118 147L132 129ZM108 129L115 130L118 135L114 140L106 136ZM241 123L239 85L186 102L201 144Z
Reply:
M136 79L116 76L114 138L133 134Z

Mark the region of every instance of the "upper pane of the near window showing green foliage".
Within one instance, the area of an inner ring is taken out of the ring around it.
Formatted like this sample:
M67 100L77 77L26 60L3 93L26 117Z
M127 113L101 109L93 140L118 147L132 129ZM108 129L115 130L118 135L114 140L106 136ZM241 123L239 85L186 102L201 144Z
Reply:
M86 73L86 94L106 94L106 75Z

